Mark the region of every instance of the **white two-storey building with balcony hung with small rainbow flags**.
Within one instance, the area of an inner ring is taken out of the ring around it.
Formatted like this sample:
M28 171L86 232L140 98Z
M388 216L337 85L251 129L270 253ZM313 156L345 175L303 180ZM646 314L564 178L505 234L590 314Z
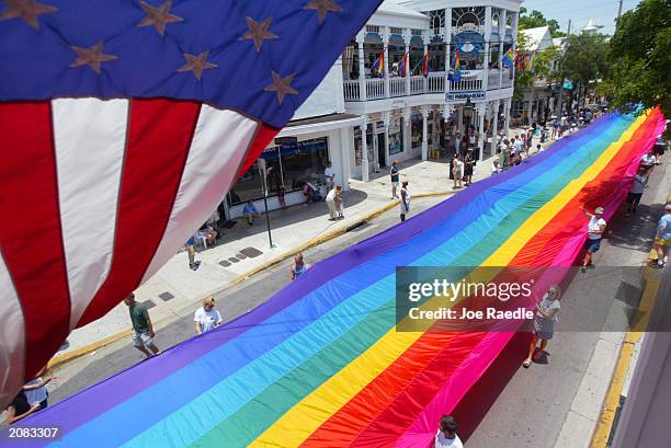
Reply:
M327 161L336 183L348 189L350 179L367 182L394 160L454 151L455 138L467 129L477 156L490 156L488 141L507 133L510 123L514 73L502 59L516 39L520 3L385 0L280 134L297 142L266 148L270 208L280 206L282 185L287 205L305 200L306 182L326 194ZM455 82L448 71L457 51L460 80ZM240 216L244 202L262 199L261 180L257 165L242 176L225 202L227 217Z

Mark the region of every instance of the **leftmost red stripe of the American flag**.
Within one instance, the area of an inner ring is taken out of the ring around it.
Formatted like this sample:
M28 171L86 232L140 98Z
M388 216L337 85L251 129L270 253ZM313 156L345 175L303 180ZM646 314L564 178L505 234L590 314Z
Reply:
M50 102L0 104L0 244L25 319L25 378L69 333Z

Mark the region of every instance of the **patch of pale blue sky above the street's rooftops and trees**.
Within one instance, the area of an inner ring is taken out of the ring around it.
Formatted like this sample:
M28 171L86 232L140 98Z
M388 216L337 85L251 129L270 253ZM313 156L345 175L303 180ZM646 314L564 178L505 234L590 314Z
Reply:
M624 0L623 14L636 8L638 2L639 0ZM522 5L530 12L541 11L548 20L556 19L565 33L569 19L572 19L571 32L580 30L590 19L594 19L598 25L603 25L602 33L613 34L618 3L618 0L524 0Z

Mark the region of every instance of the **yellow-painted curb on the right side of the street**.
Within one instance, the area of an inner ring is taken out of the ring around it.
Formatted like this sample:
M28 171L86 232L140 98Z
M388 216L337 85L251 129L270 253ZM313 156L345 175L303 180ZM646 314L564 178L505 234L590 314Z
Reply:
M638 306L638 312L641 313L641 320L639 323L640 329L645 329L655 305L655 297L659 289L659 280L651 277L652 268L649 266L645 267L644 279L646 287L642 292L640 303ZM617 364L615 365L615 371L611 379L611 386L606 392L603 406L601 409L601 415L596 421L596 428L592 434L592 440L590 443L591 448L605 448L609 440L611 439L611 433L614 430L615 417L617 415L617 409L621 406L622 389L624 387L624 380L632 363L632 356L634 354L634 347L636 343L641 338L642 331L627 331L624 341L619 346L619 354L617 357Z

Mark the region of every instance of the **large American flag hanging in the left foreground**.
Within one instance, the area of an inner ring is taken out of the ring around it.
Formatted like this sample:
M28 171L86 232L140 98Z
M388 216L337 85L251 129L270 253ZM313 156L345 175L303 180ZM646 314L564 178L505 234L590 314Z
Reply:
M0 0L0 404L175 253L379 3Z

